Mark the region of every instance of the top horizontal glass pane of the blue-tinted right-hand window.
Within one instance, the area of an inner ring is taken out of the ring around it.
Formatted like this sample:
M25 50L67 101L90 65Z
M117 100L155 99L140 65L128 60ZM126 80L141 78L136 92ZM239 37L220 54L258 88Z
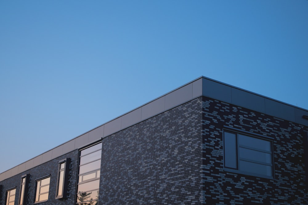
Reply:
M257 149L262 149L265 151L270 151L270 142L266 140L257 139L254 137L249 137L245 135L238 135L239 144L244 146L249 146Z

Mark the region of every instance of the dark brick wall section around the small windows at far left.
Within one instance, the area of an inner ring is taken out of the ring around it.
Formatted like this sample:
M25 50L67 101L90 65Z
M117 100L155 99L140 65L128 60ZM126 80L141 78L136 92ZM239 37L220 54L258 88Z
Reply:
M70 169L69 169L69 177L68 177L68 189L67 189L67 199L55 199L56 195L56 186L57 186L57 178L58 178L58 163L60 160L65 158L71 158ZM39 204L57 204L57 205L67 205L74 204L75 201L75 186L76 186L76 175L77 175L77 166L78 166L78 150L67 153L63 156L60 156L54 160L46 162L42 165L39 165L35 168L27 170L21 174L15 175L9 179L6 179L1 182L3 188L2 190L2 200L0 205L5 204L5 195L6 189L11 187L16 187L16 196L15 196L15 204L18 204L18 197L20 192L20 182L21 176L25 174L30 174L30 181L28 186L28 195L27 204L33 204L35 199L35 187L36 182L35 179L46 176L50 174L50 186L49 186L49 195L48 201L42 202Z

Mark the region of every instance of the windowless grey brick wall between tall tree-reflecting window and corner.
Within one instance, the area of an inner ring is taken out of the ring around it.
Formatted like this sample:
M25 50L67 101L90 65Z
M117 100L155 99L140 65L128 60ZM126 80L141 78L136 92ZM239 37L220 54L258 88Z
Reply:
M103 139L100 204L200 204L201 98Z

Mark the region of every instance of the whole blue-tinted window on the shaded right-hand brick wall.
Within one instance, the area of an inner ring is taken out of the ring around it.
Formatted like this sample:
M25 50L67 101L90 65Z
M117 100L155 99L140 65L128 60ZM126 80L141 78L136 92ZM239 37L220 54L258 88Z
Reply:
M273 177L272 143L269 140L224 131L224 166L228 171Z

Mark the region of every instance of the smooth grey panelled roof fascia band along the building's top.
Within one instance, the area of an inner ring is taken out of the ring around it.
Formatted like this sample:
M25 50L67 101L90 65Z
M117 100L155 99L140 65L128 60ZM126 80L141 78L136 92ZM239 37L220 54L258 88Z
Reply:
M233 95L233 98L232 98L232 95ZM244 95L244 96L248 95L249 97L256 98L259 102L261 102L261 105L257 105L253 103L242 103L241 95ZM270 97L266 97L266 96L263 96L257 93L250 92L245 89L238 88L233 85L229 85L229 84L226 84L220 81L213 80L208 77L201 76L176 89L173 89L172 91L168 93L165 93L164 95L161 95L160 97L155 98L152 101L149 101L129 112L126 112L112 120L109 120L106 123L101 124L71 140L68 140L67 142L60 144L59 146L52 148L48 150L47 152L44 152L38 156L35 156L31 158L30 160L27 160L26 162L18 164L14 168L11 168L11 169L8 169L2 172L0 174L0 181L7 179L10 176L14 176L18 173L26 171L30 168L36 167L39 164L43 164L49 160L55 159L68 152L79 149L83 146L86 146L87 144L91 144L94 141L100 140L115 132L119 132L120 130L128 128L141 121L147 120L150 117L156 116L162 112L165 112L169 109L172 109L180 104L183 104L187 101L191 101L200 96L210 97L213 99L224 101L230 104L235 104L235 105L245 107L251 110L255 110L257 112L262 112L265 114L269 114L266 112L270 112L269 115L271 115L271 109L266 110L266 106L268 106L269 108L272 108L273 103L274 105L285 106L285 108L288 108L289 112L282 113L283 115L279 113L276 113L278 115L275 115L274 113L274 115L272 116L276 116L276 117L289 120L289 121L294 121L294 122L297 121L296 123L303 124L304 126L308 126L308 120L307 122L301 119L296 120L297 119L296 115L298 113L299 115L302 115L304 113L304 115L308 116L308 110L304 108L300 108L300 107L297 107L291 104L287 104L287 103L272 99ZM264 100L264 105L262 105L263 100ZM152 108L155 109L155 112L152 112L153 110ZM291 114L293 113L292 108L294 108L294 116L292 116ZM299 111L295 110L295 108L298 109ZM45 156L44 157L45 159L43 159L43 156ZM31 163L28 163L30 165L27 165L27 162L31 162L31 160L33 161L32 166L31 166ZM19 167L20 167L20 171L19 171ZM14 170L16 168L17 168L17 171Z

